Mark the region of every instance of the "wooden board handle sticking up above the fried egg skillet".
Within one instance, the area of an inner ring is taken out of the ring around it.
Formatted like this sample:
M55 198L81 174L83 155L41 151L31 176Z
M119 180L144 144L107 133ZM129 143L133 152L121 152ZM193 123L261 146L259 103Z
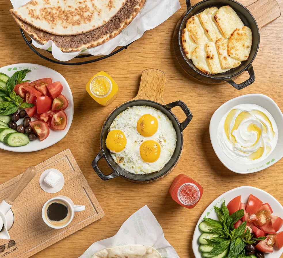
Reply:
M132 100L152 100L163 104L166 74L157 69L144 70L140 79L138 95Z

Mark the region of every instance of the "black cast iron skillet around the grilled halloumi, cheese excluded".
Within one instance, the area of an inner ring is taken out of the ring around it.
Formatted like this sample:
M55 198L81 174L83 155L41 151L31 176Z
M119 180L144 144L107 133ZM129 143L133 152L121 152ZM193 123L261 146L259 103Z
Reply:
M175 34L174 37L176 37L176 39L174 39L174 51L177 59L178 56L180 56L181 54L181 58L185 60L189 69L192 69L197 74L206 77L208 81L212 81L212 83L213 81L215 81L215 83L217 82L219 83L219 81L224 80L230 83L236 89L243 89L248 85L252 84L254 82L254 70L252 68L252 61L257 55L257 51L259 49L259 27L257 26L257 22L250 13L250 11L246 7L244 7L244 5L241 5L240 3L233 0L204 0L197 3L194 6L191 6L190 0L186 0L186 4L187 4L187 12L181 17L180 21L177 24L176 27L177 33L174 33ZM241 62L240 66L233 68L227 72L223 72L221 74L205 74L201 72L199 69L197 69L194 66L193 62L189 60L185 55L182 46L181 33L186 26L187 20L190 17L204 11L206 8L209 7L220 8L221 6L225 6L225 5L230 5L234 9L234 11L238 14L244 25L248 26L252 31L252 46L251 46L250 55L248 60ZM180 60L178 61L180 63ZM235 83L233 81L233 78L236 78L244 71L248 71L250 75L249 79L240 84Z

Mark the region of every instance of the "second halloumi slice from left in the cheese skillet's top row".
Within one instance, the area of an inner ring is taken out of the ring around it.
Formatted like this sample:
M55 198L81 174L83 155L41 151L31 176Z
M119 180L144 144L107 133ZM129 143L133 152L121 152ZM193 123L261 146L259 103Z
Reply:
M217 7L211 7L205 9L203 12L198 14L200 22L206 31L208 38L211 41L216 41L222 37L219 29L217 28L216 22L214 20L215 13L217 12Z

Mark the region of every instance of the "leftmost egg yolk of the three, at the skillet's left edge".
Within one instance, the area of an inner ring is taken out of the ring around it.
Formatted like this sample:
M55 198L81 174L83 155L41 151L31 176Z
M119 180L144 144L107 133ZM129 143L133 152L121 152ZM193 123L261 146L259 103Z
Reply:
M120 152L126 147L126 136L121 130L112 130L106 138L106 147L111 152Z

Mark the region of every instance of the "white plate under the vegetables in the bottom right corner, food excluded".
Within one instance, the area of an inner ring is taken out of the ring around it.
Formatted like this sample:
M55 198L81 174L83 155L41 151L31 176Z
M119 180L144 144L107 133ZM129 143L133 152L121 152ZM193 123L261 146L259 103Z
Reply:
M233 198L235 198L236 196L241 195L242 196L242 202L246 203L248 201L248 197L250 194L253 194L254 196L256 196L257 198L259 198L261 201L263 201L263 203L268 202L273 210L272 215L275 216L279 216L279 217L283 217L283 207L280 204L280 202L278 202L278 200L276 200L271 194L259 189L259 188L255 188L252 186L241 186L238 188L234 188L224 194L222 194L221 196L219 196L218 198L216 198L204 211L204 213L202 213L200 219L197 221L197 226L195 227L195 232L193 234L193 253L195 255L195 258L202 258L202 255L200 253L200 251L198 250L199 248L199 243L198 243L198 238L200 237L200 235L202 234L202 232L200 232L198 226L199 224L203 221L204 217L207 218L211 218L211 219L218 219L216 212L214 211L213 206L217 206L220 207L223 203L223 201L225 201L225 204L227 205ZM279 231L283 230L283 226ZM274 247L274 251L273 253L265 253L265 258L280 258L280 256L283 253L283 248L278 249L276 247Z

